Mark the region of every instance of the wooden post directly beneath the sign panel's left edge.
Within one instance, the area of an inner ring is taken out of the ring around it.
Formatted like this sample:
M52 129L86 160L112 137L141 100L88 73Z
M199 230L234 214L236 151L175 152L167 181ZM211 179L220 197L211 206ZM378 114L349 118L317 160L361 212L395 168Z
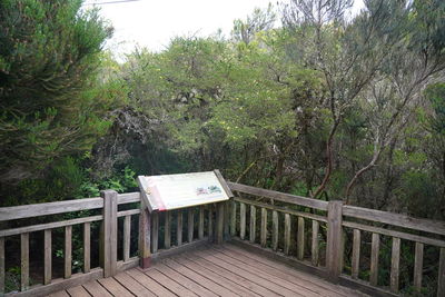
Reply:
M144 201L140 202L140 216L139 216L139 266L142 269L147 269L151 264L151 218L148 208Z

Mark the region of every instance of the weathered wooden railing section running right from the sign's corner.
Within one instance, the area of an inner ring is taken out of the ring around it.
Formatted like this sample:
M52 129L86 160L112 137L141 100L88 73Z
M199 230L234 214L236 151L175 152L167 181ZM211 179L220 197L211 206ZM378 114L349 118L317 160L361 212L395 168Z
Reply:
M439 254L437 296L445 296L445 222L347 206L342 201L309 199L234 182L228 182L228 186L238 194L231 202L230 235L238 237L239 244L246 246L246 241L249 241L257 253L265 253L300 269L372 295L399 293L402 240L415 242L412 285L415 290L421 291L424 245L434 246ZM270 212L271 220L268 219ZM296 231L293 230L293 221L296 222ZM309 228L307 222L310 222ZM308 234L310 244L306 241ZM348 234L353 237L349 271L344 269L344 247ZM369 269L366 264L360 264L360 246L364 245L362 234L370 234L372 237ZM294 236L295 245L291 244ZM389 286L378 283L382 236L392 238ZM367 279L359 277L363 270L368 270Z

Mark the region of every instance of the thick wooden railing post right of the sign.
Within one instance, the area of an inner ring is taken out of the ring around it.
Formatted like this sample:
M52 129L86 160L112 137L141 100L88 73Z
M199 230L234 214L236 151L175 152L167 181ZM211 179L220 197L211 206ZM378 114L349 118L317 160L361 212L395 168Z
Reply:
M343 201L329 201L327 206L326 268L332 281L338 283L342 274Z

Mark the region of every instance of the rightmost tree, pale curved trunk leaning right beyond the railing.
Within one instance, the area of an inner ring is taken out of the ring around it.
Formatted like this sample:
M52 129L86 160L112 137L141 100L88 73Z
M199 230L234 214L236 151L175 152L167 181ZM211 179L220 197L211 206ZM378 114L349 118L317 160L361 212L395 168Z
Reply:
M368 102L374 102L370 116L374 152L370 161L357 170L348 182L346 201L357 179L376 166L385 147L406 126L409 119L406 113L409 112L404 111L416 100L422 100L426 86L443 79L441 72L445 69L444 42L441 39L445 23L438 17L445 13L445 4L432 1L425 6L422 1L408 1L394 3L387 10L395 12L387 26L395 31L393 37L397 37L398 31L398 40L395 40L395 47L387 50L384 67L373 80L372 90L365 93Z

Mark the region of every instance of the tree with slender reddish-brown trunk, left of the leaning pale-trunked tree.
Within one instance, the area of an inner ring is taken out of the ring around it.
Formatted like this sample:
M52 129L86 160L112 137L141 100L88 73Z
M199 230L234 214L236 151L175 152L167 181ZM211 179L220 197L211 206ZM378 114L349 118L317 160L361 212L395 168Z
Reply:
M319 196L330 179L334 140L344 116L375 77L386 48L394 42L388 39L386 44L379 44L382 27L390 16L376 4L383 1L369 2L368 11L353 22L345 18L350 0L293 0L284 8L284 23L295 36L296 50L291 55L323 73L328 90L326 107L332 125L326 139L327 165L313 197Z

